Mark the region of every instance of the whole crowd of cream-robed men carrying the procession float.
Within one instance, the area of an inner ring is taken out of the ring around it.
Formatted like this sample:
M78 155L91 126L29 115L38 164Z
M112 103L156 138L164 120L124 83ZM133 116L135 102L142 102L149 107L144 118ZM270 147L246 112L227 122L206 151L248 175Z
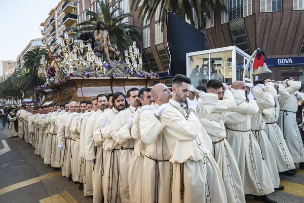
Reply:
M279 174L304 169L300 87L285 78L194 88L178 74L171 90L28 106L16 113L18 136L93 202L276 202L267 195L284 189Z

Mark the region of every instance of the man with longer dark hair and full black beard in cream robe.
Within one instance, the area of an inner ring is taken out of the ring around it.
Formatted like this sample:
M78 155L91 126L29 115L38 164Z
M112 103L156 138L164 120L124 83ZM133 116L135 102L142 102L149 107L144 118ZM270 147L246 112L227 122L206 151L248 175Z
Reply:
M112 97L113 108L105 112L100 120L100 139L103 139L103 166L102 166L102 192L104 201L121 202L119 190L119 157L121 146L111 137L113 129L112 121L115 120L119 112L125 109L126 98L122 92L116 92ZM97 134L95 134L97 137Z

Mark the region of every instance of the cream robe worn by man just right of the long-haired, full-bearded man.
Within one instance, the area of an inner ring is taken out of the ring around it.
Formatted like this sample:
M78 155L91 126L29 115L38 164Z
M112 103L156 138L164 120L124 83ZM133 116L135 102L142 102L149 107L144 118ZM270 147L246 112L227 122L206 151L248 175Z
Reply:
M136 108L130 106L124 112L119 114L112 128L111 137L121 145L119 160L119 188L121 202L130 202L129 194L129 166L131 156L134 151L134 139L131 137L131 129L128 129L127 123L132 114L136 112Z

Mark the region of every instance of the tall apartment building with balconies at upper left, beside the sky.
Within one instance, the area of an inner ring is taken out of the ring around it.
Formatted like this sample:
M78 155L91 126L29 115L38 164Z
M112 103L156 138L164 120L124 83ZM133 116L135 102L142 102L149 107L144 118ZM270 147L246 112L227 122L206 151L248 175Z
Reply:
M46 42L52 45L67 27L75 27L76 24L77 1L61 0L55 8L51 9L49 16L40 26L43 26Z

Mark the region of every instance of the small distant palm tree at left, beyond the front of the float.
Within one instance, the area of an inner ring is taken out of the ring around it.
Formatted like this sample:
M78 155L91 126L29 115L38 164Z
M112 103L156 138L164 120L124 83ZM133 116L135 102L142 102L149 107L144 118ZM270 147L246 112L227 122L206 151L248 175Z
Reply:
M40 47L35 47L33 50L28 51L24 56L23 60L24 67L26 70L28 70L30 73L38 74L38 68L40 66L40 59L42 55L46 56L46 59L48 60L48 51L46 49L40 49Z

